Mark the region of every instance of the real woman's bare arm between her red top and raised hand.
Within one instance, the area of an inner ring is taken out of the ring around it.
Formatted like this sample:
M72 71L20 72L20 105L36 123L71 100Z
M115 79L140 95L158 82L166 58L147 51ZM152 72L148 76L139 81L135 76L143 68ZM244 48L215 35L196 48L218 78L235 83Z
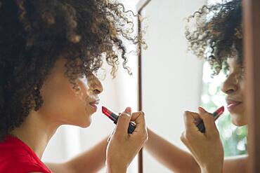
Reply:
M85 151L77 157L72 158L72 160L60 164L46 163L46 165L54 173L98 172L99 169L105 166L107 140L108 138L106 137L89 151Z

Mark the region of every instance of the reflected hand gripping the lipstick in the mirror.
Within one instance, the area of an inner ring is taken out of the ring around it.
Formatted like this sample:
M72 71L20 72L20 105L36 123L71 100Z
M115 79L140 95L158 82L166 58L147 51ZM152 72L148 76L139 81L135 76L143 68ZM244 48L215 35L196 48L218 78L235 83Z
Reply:
M198 130L196 124L202 119L205 132ZM212 113L208 113L199 107L199 113L186 111L184 113L186 131L181 135L181 141L193 154L193 158L200 165L202 172L222 172L223 146L216 129Z

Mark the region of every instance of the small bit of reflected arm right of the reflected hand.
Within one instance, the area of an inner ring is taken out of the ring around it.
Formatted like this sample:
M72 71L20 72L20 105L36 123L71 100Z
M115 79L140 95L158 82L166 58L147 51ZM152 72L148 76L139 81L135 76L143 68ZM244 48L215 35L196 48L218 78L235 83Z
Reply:
M223 172L247 172L248 155L225 158Z

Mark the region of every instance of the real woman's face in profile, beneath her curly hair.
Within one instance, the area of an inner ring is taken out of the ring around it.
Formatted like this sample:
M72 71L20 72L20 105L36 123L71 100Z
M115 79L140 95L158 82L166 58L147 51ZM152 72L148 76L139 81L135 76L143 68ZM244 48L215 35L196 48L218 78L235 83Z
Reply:
M81 90L76 92L65 76L65 62L65 59L60 58L46 78L41 89L44 104L37 112L48 122L58 125L88 127L91 124L91 115L97 110L98 95L103 91L103 86L91 74L77 79Z

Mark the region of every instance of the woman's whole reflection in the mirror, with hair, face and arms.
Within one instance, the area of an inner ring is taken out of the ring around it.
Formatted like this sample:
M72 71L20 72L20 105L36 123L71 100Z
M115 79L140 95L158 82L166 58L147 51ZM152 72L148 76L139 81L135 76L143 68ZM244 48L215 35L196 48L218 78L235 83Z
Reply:
M224 1L222 4L203 6L188 18L195 29L187 28L186 38L190 50L212 65L214 75L227 73L222 91L234 125L246 125L244 106L244 80L242 56L242 4L241 0ZM204 121L206 132L198 131L195 121ZM148 130L145 148L174 172L247 172L247 155L223 158L223 146L214 118L201 107L199 113L184 113L186 130L181 141L190 153L177 148ZM155 147L157 150L155 150Z

